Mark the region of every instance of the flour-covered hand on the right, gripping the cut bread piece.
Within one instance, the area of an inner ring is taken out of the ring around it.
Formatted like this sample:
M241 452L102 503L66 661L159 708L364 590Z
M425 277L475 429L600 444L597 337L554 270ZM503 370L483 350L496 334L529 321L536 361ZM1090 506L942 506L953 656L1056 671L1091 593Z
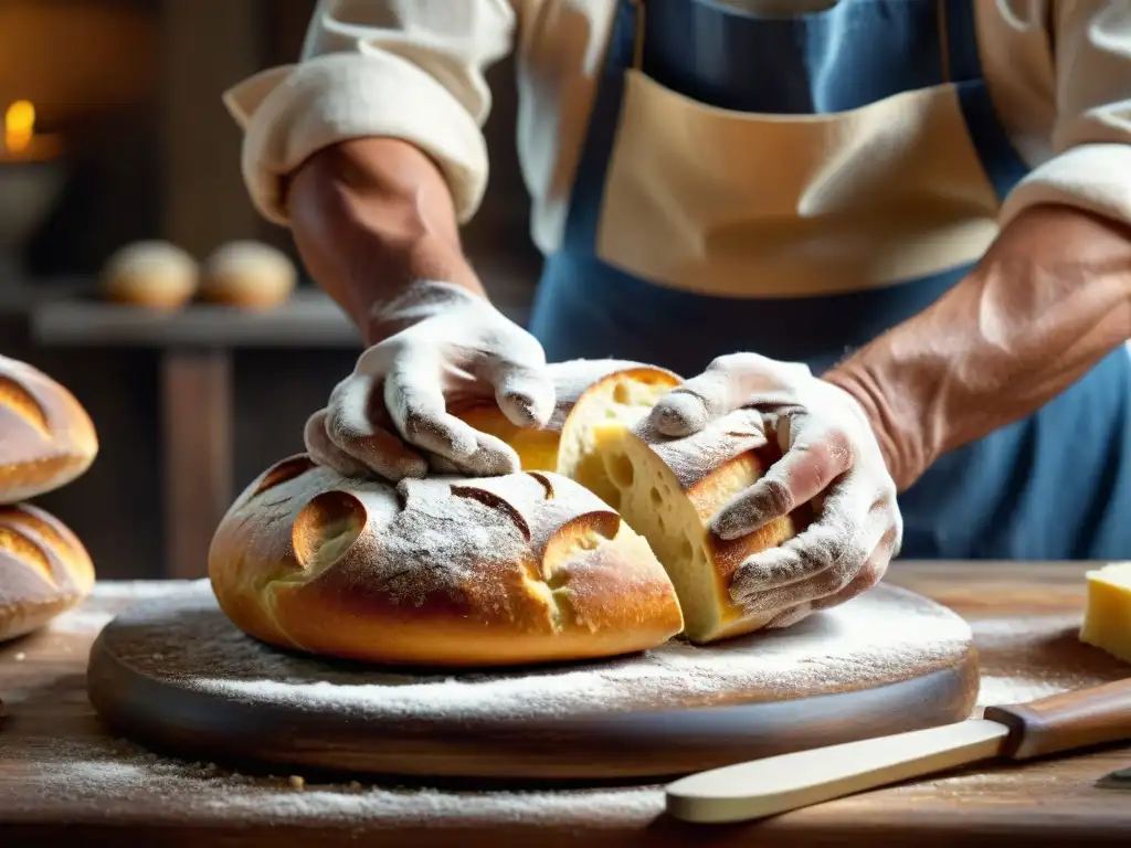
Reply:
M856 400L802 364L719 357L664 397L653 424L687 435L739 408L761 415L783 457L716 514L711 529L734 539L812 503L813 523L751 556L731 583L736 604L774 615L769 626L788 626L880 581L903 542L896 484Z

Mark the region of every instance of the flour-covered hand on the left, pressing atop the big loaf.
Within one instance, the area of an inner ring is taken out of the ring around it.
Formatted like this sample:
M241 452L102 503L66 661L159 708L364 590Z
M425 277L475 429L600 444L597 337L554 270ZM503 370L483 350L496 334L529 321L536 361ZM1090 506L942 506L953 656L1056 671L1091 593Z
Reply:
M422 282L372 313L371 337L326 409L307 423L314 461L389 481L434 470L473 475L519 470L518 455L448 409L494 398L520 426L542 426L554 408L545 353L483 297Z

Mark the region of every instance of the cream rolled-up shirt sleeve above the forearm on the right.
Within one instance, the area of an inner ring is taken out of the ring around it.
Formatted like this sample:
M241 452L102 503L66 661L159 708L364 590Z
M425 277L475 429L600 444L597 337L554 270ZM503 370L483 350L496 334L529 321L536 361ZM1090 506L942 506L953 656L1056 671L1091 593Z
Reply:
M1038 204L1067 204L1131 223L1131 2L1015 0L1011 6L1047 21L1037 37L1053 60L1048 93L1055 119L1051 156L1007 198L1002 223Z

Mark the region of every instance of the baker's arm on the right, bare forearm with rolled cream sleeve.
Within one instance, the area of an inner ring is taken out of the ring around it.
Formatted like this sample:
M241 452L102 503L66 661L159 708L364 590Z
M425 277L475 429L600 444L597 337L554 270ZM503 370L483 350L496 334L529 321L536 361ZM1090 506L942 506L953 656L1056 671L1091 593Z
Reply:
M1131 338L1131 5L1012 8L1010 25L1047 45L1053 81L1030 87L1055 110L1050 155L1007 198L972 274L824 375L864 406L900 488Z

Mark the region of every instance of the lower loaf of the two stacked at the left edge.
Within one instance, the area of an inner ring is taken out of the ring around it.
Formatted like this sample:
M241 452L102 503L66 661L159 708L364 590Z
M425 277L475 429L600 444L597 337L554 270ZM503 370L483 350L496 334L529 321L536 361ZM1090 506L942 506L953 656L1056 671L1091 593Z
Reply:
M37 630L93 586L90 557L61 521L28 504L0 507L0 641Z

